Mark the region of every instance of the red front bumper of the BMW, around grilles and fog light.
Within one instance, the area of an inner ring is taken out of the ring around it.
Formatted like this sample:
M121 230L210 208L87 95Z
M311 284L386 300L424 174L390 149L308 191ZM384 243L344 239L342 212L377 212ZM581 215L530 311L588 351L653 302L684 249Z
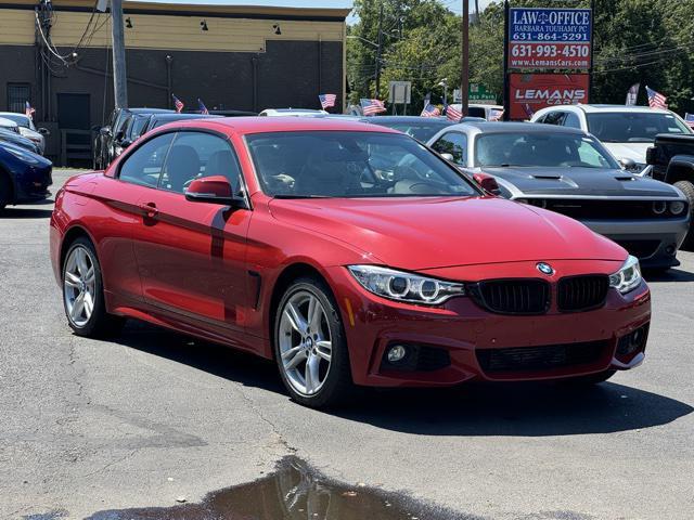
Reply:
M555 277L579 273L609 274L619 269L619 262L605 261L592 262L595 268L592 271L586 271L584 265L578 270L580 263L586 262L552 262L557 273ZM513 264L513 271L517 277L537 277L535 265L536 262L517 262ZM479 274L479 266L474 271ZM505 276L494 275L494 272L500 272L498 266L490 266L488 275L481 277L472 277L472 270L466 268L426 273L465 281ZM647 332L651 295L645 283L625 296L609 289L604 306L592 311L561 313L553 303L547 314L518 316L491 313L468 297L453 298L440 307L398 303L363 289L345 268L331 268L330 276L342 311L352 378L357 385L437 387L468 380L557 379L606 369L628 369L643 361L643 348L628 356L619 355L617 351L620 338L640 327ZM422 347L423 351L445 351L448 362L426 369L389 369L384 359L394 343ZM492 350L517 353L522 351L513 349L542 350L557 346L580 350L582 343L599 349L589 362L528 369L490 369L486 363L488 356L484 354Z

